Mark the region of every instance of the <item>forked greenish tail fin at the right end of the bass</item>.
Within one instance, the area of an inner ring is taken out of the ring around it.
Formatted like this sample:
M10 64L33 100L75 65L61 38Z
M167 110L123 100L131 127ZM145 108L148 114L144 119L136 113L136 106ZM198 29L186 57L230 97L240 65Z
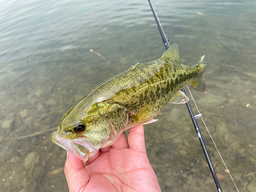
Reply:
M195 67L198 69L198 76L193 83L189 84L189 86L191 86L195 90L198 90L204 93L207 92L207 87L202 78L202 75L203 75L203 72L207 69L208 65L209 63L198 63L195 65Z

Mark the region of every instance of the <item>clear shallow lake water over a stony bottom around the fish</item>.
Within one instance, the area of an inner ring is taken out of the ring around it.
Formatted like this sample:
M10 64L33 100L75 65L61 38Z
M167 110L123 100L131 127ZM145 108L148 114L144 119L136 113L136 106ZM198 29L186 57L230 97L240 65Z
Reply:
M208 92L191 91L239 190L256 191L255 1L152 3L182 63L206 55ZM147 1L0 4L0 191L68 191L66 151L48 130L100 82L158 59L162 39ZM186 106L168 104L158 119L144 127L162 191L217 191ZM198 124L223 191L236 191Z

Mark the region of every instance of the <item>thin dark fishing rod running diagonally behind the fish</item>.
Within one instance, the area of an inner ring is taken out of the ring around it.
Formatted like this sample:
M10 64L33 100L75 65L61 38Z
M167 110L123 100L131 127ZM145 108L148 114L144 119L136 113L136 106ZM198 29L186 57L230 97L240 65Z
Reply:
M153 5L151 4L151 0L147 0L147 1L148 1L148 3L150 4L152 13L153 13L153 15L154 15L154 17L155 17L155 20L156 20L156 23L157 23L157 27L158 27L158 29L159 29L159 32L160 32L161 37L162 37L162 40L163 40L164 47L165 47L165 49L167 50L167 49L169 49L169 47L168 47L168 46L169 46L168 39L166 38L166 35L165 35L165 33L164 33L163 29L162 29L162 26L161 26L161 24L160 24L160 21L159 21L159 18L158 18L158 16L157 16L157 14L156 14L156 12L155 12L155 10L154 10L154 7L153 7ZM184 89L182 89L181 91L182 91L183 93L185 93ZM203 138L202 138L202 136L201 136L201 133L200 133L200 130L199 130L199 127L198 127L196 118L195 118L195 116L194 116L194 114L193 114L193 111L191 110L191 107L190 107L189 102L186 102L186 105L187 105L187 109L188 109L188 112L189 112L189 114L190 114L191 120L192 120L192 122L193 122L193 124L194 124L195 130L196 130L196 132L197 132L197 136L198 136L199 141L200 141L200 143L201 143L201 146L202 146L202 148L203 148L203 152L204 152L205 158L206 158L206 160L207 160L207 163L208 163L208 165L209 165L209 168L210 168L212 177L214 178L214 181L215 181L215 184L216 184L216 186L217 186L218 191L219 191L219 192L222 192L221 185L220 185L219 180L218 180L218 178L217 178L217 175L216 175L216 173L215 173L214 166L212 166L212 163L211 163L211 161L210 161L210 157L209 157L208 152L207 152L207 150L206 150L206 146L205 146L204 141L203 141ZM201 114L197 115L196 117L198 117L198 116L200 117Z

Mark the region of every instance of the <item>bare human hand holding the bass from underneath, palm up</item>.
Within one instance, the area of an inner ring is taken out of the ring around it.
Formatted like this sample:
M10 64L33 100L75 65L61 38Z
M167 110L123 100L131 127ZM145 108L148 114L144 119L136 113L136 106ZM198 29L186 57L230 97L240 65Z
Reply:
M161 191L146 155L143 125L122 133L86 163L67 152L65 175L70 192Z

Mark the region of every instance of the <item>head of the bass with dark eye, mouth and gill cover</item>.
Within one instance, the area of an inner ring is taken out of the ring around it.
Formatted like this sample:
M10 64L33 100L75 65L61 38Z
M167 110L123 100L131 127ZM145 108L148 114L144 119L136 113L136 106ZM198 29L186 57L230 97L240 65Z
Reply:
M95 102L90 109L83 106L78 102L62 117L51 140L85 163L100 148L117 140L128 122L128 113L124 106L113 102Z

